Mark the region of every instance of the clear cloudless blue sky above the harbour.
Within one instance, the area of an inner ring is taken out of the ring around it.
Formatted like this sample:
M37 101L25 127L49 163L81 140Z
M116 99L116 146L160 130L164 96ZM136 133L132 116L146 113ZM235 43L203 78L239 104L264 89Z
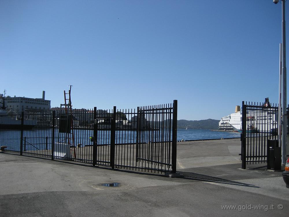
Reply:
M59 107L72 84L74 108L176 99L178 119L221 119L278 101L279 43L272 0L1 0L0 91Z

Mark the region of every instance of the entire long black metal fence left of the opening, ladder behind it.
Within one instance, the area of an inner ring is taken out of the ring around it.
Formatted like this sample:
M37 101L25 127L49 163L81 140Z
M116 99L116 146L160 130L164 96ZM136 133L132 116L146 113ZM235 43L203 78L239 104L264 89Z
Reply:
M108 110L0 115L5 152L144 172L176 172L177 100Z

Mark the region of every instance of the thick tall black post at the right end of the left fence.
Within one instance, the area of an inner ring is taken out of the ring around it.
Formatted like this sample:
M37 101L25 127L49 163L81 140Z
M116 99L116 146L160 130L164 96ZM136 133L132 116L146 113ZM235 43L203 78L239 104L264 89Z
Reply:
M172 141L172 170L177 172L177 112L178 101L174 100L173 104L173 141Z

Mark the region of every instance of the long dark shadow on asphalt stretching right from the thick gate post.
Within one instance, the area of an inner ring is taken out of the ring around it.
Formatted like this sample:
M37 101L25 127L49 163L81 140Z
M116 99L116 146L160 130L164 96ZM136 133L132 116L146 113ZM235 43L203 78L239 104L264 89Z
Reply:
M258 186L247 184L247 183L242 183L242 182L236 182L228 179L221 179L218 177L214 176L207 176L207 175L202 175L198 173L193 173L193 172L180 172L183 174L184 177L181 177L181 179L190 179L190 180L198 180L198 181L205 181L205 182L214 182L214 183L223 183L223 184L229 184L229 185L239 185L239 186L244 186L244 187L255 187L259 188Z

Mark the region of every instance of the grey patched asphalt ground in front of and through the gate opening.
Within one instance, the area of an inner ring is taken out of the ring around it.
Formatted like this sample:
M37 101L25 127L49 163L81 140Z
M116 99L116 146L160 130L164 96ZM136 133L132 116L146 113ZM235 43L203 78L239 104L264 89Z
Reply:
M180 178L0 153L0 216L287 216L281 172L241 170L239 152L240 139L178 143Z

